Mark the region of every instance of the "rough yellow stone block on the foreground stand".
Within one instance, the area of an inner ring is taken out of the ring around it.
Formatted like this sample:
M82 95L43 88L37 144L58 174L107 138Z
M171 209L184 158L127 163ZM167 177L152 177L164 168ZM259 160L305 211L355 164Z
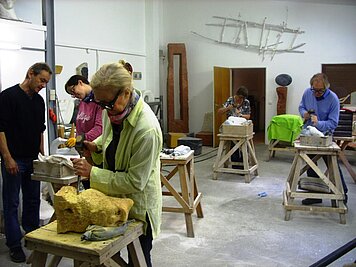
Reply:
M117 226L127 221L133 204L132 199L110 197L92 188L77 194L75 187L63 186L54 195L57 232L82 233L91 224Z

